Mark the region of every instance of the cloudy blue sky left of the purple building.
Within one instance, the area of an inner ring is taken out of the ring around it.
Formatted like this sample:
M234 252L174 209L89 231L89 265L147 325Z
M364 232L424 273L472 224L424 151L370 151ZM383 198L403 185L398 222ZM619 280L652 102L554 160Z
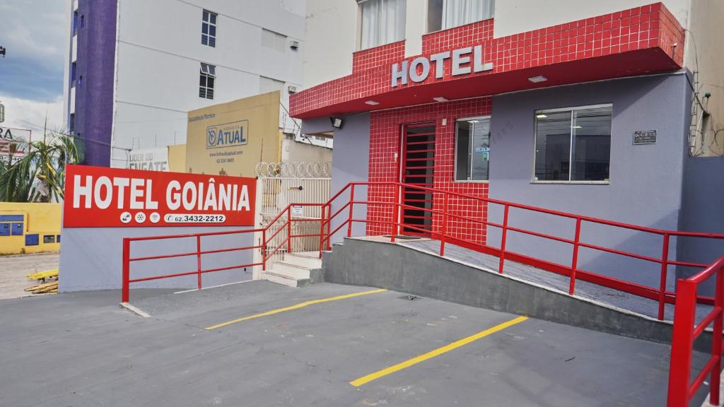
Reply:
M66 0L0 0L0 127L63 126L63 67L70 46Z

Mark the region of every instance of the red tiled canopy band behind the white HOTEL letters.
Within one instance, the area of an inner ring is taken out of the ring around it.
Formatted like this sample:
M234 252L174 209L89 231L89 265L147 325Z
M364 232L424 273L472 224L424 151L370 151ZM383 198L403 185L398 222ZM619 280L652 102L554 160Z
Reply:
M660 49L679 67L683 64L684 30L661 3L501 38L493 38L493 23L493 20L474 22L423 37L424 56L463 46L482 45L484 61L493 63L492 71L455 77L445 75L442 79L430 75L423 83L410 82L405 87L466 76L494 75L639 49ZM326 106L392 91L391 65L403 60L404 44L404 41L400 41L355 53L352 75L292 95L292 116L304 117L306 113ZM674 47L674 44L677 46ZM412 59L414 57L407 60ZM445 69L450 70L450 63L446 64Z

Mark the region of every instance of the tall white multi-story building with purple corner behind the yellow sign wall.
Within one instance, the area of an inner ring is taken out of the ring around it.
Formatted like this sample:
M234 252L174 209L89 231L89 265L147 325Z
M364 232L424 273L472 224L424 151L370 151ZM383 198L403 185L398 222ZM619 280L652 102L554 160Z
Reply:
M187 112L303 85L304 0L69 0L67 127L86 163L185 143ZM298 133L298 132L296 132Z

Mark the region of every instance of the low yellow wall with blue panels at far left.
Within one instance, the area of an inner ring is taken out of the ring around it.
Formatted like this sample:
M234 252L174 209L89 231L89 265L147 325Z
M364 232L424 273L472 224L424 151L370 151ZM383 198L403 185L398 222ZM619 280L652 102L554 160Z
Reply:
M8 215L20 215L22 220L4 220ZM0 202L0 227L9 224L12 229L12 224L22 222L22 235L0 236L0 254L59 251L61 216L61 204ZM38 235L38 244L25 246L28 235ZM54 243L43 243L46 236L52 236Z

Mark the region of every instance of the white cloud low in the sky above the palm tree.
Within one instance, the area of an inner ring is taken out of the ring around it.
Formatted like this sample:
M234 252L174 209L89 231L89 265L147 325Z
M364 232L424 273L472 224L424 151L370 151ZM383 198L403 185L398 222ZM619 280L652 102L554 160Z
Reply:
M14 98L0 94L0 101L5 105L5 122L0 127L14 127L41 131L48 117L48 128L60 130L63 127L63 96L47 102Z

